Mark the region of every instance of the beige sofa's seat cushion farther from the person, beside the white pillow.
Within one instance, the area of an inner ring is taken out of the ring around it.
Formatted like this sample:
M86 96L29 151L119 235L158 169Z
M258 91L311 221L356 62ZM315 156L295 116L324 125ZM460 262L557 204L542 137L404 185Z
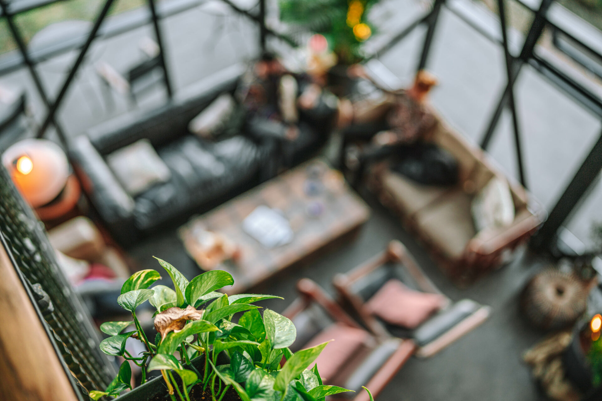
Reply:
M470 212L471 196L462 191L446 194L416 213L420 232L450 259L460 259L475 233Z

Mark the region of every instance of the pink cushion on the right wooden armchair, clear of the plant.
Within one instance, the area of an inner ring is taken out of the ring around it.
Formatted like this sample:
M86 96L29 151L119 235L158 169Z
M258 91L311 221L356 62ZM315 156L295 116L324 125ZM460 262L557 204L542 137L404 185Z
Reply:
M440 294L418 292L392 278L366 302L365 308L389 324L414 329L444 303L445 297Z

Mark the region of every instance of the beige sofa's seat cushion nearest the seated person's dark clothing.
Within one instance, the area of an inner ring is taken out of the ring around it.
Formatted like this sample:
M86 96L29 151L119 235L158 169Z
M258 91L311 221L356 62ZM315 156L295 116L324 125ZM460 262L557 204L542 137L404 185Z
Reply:
M448 189L444 186L422 185L390 170L383 173L382 184L407 216L414 215Z

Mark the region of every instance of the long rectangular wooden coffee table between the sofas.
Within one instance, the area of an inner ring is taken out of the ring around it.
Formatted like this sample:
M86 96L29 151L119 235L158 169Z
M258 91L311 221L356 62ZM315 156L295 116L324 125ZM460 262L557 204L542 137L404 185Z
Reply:
M258 206L278 209L288 219L293 240L266 248L242 228L243 220ZM306 162L245 192L179 228L179 236L190 256L199 248L195 228L221 233L240 249L236 260L222 262L216 269L234 277L229 294L241 293L294 263L351 233L370 215L370 209L352 192L342 174L321 159Z

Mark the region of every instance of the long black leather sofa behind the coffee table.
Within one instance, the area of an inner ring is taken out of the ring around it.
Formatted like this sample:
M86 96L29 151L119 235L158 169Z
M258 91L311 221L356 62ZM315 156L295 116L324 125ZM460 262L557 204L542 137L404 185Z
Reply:
M219 94L234 92L244 66L238 64L175 94L152 111L135 111L88 130L70 145L70 159L84 191L111 234L131 245L144 234L183 222L272 177L281 152L306 155L325 136L303 130L294 142L237 135L219 142L188 132L188 123ZM149 139L171 171L171 179L132 198L111 172L105 156ZM284 149L284 150L283 150ZM290 158L299 162L301 158ZM288 166L290 167L290 166Z

